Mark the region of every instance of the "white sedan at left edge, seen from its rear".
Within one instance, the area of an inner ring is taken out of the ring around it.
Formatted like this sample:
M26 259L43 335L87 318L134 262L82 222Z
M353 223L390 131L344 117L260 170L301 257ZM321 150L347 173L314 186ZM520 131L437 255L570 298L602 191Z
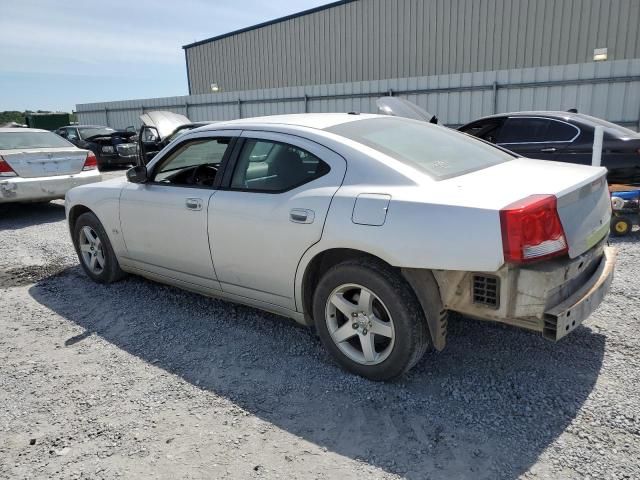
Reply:
M99 182L96 157L35 128L0 128L0 203L46 202Z

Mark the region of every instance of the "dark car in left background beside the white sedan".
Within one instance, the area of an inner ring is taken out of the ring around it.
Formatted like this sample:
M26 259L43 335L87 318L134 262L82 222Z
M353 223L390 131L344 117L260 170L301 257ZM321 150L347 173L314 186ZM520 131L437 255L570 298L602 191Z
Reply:
M95 153L100 169L137 163L138 146L133 138L136 132L99 125L69 125L57 129L56 133L74 145Z

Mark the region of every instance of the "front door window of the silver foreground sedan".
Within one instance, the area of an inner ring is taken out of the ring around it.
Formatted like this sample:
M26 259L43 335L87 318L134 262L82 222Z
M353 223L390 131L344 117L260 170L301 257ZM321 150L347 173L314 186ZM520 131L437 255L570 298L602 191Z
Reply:
M158 165L153 181L170 185L213 186L230 138L200 138L179 145Z

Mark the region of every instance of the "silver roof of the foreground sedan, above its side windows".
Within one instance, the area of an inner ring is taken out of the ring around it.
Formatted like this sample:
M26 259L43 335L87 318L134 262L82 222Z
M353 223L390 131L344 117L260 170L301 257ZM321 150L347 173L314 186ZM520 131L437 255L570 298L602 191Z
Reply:
M227 122L218 122L211 125L211 128L220 126L242 126L242 125L293 125L298 127L325 129L339 125L341 123L365 120L367 118L377 118L384 115L374 115L368 113L296 113L290 115L268 115L264 117L242 118ZM206 129L207 127L203 127Z

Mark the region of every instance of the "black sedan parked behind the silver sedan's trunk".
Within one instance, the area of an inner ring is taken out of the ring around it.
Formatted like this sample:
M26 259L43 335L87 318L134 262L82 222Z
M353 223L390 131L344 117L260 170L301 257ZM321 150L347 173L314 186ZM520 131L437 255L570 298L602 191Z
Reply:
M598 125L604 129L602 166L609 170L609 183L640 185L640 134L599 118L573 112L504 113L459 130L524 157L590 165Z

